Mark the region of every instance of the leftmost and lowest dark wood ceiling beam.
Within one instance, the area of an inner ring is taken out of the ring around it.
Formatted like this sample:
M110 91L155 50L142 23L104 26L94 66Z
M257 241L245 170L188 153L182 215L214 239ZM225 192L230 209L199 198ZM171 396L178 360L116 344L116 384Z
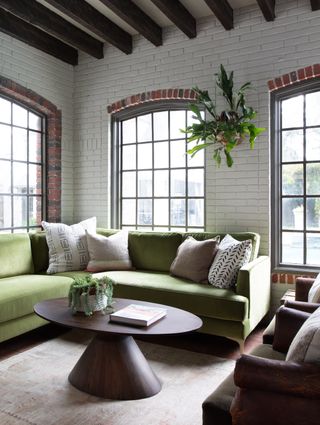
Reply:
M78 63L76 49L1 8L0 31L71 65Z

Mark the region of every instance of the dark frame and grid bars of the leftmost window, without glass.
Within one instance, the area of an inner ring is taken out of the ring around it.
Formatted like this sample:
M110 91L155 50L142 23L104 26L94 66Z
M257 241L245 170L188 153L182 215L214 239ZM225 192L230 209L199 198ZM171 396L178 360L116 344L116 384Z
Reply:
M7 125L8 127L10 127L10 131L11 131L11 157L10 159L5 159L5 158L1 158L1 160L6 160L10 163L10 172L11 172L11 191L10 193L2 193L1 195L5 195L5 196L10 196L10 203L11 203L11 226L6 226L6 227L1 227L0 228L0 233L19 233L19 232L30 232L32 230L39 230L41 229L41 223L39 224L35 224L35 225L30 225L30 217L29 217L29 211L30 211L30 199L32 199L33 197L41 197L41 220L46 220L47 219L47 210L48 210L48 206L47 206L47 116L44 113L39 112L38 110L32 108L29 105L26 105L23 102L19 102L18 100L16 100L13 97L10 96L6 96L5 94L0 93L0 98L8 101L11 103L11 123L5 123L0 121L1 125ZM20 125L16 125L13 124L12 121L12 113L13 113L13 105L17 105L23 109L25 109L28 112L27 115L27 126L23 127ZM32 113L33 115L37 115L40 118L40 122L41 122L41 129L40 130L36 130L33 128L29 127L29 112ZM27 160L23 161L23 160L14 160L14 158L12 157L12 152L13 152L13 129L14 128L21 128L21 129L25 129L27 131ZM41 162L34 162L34 161L30 161L29 160L29 131L38 133L41 135ZM22 194L22 193L14 193L13 192L13 186L12 186L12 182L13 182L13 163L14 162L18 162L18 163L25 163L27 165L27 192L26 194ZM32 195L29 193L29 164L35 164L35 165L40 165L41 166L41 194L40 195ZM14 226L14 196L22 196L25 197L27 199L26 205L27 205L27 224L25 226Z

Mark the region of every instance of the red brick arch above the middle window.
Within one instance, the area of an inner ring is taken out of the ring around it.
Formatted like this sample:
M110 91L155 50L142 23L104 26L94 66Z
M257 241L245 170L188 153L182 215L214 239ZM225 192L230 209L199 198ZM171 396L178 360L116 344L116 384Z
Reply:
M192 89L159 89L147 91L118 100L108 106L108 112L114 114L131 106L162 100L194 100L196 93Z

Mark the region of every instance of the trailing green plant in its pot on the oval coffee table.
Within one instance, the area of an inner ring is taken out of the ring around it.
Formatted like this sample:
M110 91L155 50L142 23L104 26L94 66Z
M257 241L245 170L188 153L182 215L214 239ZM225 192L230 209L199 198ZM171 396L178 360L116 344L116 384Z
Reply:
M114 282L107 276L100 279L91 275L77 277L69 289L69 307L72 313L83 312L91 316L95 311L112 311Z

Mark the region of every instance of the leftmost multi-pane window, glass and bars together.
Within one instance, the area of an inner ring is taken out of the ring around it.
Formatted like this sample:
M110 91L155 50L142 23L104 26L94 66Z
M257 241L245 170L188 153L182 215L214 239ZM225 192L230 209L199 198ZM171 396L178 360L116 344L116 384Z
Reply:
M0 97L0 232L37 229L45 217L45 118Z

